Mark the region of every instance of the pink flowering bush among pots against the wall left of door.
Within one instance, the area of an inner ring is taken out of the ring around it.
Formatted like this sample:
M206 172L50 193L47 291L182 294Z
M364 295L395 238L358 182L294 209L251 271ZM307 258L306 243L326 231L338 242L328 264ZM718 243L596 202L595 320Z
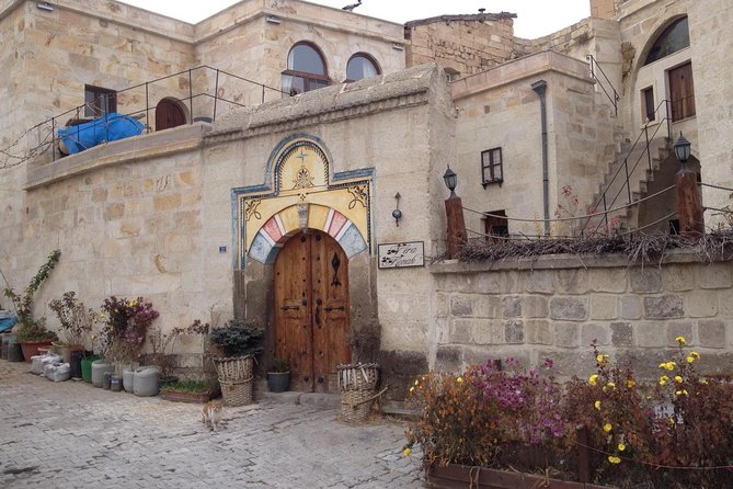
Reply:
M158 318L158 311L142 297L127 300L112 296L104 299L102 314L102 350L112 361L133 362L140 354L148 327Z

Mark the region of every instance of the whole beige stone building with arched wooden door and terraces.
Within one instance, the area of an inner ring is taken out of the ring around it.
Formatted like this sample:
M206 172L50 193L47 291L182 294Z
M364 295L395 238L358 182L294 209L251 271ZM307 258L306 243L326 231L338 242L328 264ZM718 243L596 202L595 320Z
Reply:
M254 320L265 361L289 356L303 390L333 390L351 361L379 361L397 397L415 373L490 356L553 355L570 375L591 339L642 357L679 333L730 371L726 263L437 262L448 163L477 236L593 229L542 219L569 195L577 216L598 209L607 189L622 195L608 208L658 193L610 217L666 231L679 132L702 183L733 186L733 5L591 5L522 39L506 12L400 25L245 0L191 25L115 1L1 0L2 272L22 288L61 249L47 316L73 289L88 305L145 296L163 328ZM61 157L57 128L106 112L145 134ZM728 192L702 198L714 225ZM201 345L184 346L196 366Z

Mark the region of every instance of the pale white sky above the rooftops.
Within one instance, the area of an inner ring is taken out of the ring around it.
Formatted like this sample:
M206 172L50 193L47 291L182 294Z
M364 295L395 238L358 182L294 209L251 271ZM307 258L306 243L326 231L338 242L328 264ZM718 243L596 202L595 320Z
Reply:
M237 0L122 0L123 3L158 12L185 22L196 23ZM341 9L357 0L309 0L311 3ZM536 38L566 27L591 15L589 0L362 0L355 13L403 24L408 21L444 14L512 12L514 35Z

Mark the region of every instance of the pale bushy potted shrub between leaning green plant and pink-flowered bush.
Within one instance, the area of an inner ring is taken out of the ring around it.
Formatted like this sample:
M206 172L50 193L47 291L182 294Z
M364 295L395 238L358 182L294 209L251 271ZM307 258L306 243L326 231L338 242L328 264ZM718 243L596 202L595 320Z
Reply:
M56 312L59 328L64 333L64 341L55 342L55 346L58 348L64 361L70 364L71 352L84 351L84 338L92 331L96 314L93 309L87 309L73 291L64 293L60 299L51 300L48 307Z

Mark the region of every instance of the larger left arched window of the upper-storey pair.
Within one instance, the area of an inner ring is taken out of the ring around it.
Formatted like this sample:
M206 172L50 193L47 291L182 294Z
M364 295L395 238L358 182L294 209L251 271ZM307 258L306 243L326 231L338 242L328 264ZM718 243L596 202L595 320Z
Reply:
M287 69L283 71L283 92L290 95L327 87L325 61L316 46L298 43L287 55Z

